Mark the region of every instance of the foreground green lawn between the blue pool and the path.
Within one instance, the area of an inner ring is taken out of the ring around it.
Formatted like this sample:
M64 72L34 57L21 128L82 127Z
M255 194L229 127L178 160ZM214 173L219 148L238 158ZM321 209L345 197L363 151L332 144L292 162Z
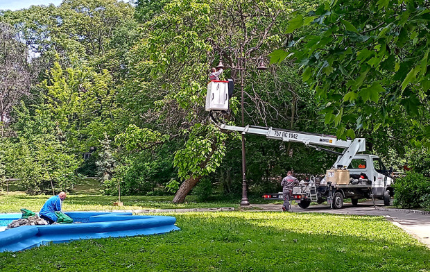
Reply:
M381 217L187 212L180 231L0 253L1 271L430 271L430 250Z

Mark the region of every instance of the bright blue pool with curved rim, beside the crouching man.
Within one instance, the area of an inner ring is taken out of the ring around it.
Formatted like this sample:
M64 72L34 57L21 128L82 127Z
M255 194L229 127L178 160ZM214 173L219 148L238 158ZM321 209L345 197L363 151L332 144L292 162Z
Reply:
M131 212L65 212L74 219L70 224L21 226L0 232L0 252L19 251L44 244L78 239L155 235L172 230L173 216L139 216ZM7 226L22 214L0 214L0 226Z

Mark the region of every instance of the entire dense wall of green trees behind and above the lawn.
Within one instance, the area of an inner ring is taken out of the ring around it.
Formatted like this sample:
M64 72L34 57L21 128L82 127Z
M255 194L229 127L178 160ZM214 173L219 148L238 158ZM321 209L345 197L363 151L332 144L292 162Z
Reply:
M236 83L230 124L241 125L243 79L245 125L337 129L424 173L413 158L430 157L419 147L429 143L428 1L332 2L65 0L1 11L0 181L55 192L98 173L106 194L121 185L121 194L176 193L179 203L200 182L205 197L211 182L238 194L241 137L204 108L220 60L222 78ZM290 169L322 173L334 159L246 139L250 192L277 190Z

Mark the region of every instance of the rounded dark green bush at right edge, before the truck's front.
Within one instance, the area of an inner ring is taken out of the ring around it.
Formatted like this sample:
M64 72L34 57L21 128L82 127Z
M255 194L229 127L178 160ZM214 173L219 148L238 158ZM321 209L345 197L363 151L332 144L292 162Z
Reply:
M394 205L406 209L413 207L430 207L430 180L422 173L408 172L394 183Z

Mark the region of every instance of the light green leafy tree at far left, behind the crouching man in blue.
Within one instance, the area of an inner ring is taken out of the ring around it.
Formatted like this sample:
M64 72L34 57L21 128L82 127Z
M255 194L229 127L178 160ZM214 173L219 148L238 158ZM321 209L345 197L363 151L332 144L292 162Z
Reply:
M53 194L71 189L81 160L62 137L53 113L44 105L31 112L22 103L15 115L19 120L12 124L16 137L1 142L6 176L20 178L19 184L31 194L46 192L49 187Z

